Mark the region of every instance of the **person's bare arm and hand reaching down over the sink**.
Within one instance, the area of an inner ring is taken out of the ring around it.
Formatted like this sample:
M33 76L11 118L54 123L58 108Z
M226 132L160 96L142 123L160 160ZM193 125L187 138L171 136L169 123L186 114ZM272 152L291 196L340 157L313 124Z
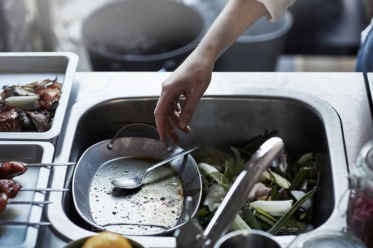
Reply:
M154 111L161 141L169 137L175 144L178 143L173 124L184 133L190 132L188 123L210 84L215 61L265 13L265 6L256 0L230 0L196 49L163 82ZM179 98L182 95L186 98L180 109Z

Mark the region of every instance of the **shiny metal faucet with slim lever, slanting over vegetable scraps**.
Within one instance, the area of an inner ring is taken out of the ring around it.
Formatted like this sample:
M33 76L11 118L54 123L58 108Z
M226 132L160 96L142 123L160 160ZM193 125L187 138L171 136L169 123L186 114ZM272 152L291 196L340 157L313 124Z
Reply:
M233 182L205 231L191 218L191 197L188 196L185 205L187 222L175 232L178 247L213 247L230 227L263 172L270 166L278 166L278 157L284 154L284 147L279 137L270 138L259 147L245 163L244 171Z

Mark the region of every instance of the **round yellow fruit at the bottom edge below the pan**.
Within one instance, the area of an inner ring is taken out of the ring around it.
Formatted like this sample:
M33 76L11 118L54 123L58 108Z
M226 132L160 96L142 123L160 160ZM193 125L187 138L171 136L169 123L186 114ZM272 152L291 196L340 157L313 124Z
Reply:
M132 245L125 237L110 232L100 232L88 238L82 248L132 248Z

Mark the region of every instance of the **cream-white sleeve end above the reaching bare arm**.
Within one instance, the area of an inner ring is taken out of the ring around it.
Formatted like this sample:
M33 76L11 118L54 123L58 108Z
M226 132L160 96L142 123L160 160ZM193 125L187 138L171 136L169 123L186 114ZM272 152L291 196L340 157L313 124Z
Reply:
M292 6L295 0L257 0L262 3L268 13L264 18L270 22L275 22L285 15L286 10Z

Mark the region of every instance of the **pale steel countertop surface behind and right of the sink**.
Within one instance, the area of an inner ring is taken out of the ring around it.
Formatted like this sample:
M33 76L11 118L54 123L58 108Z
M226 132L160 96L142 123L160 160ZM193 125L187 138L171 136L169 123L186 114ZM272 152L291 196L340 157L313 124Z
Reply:
M159 96L169 72L77 72L69 101L99 95L110 87L123 98ZM373 138L368 97L362 73L355 72L214 72L205 96L246 95L251 88L281 88L313 94L340 115L351 167L362 145ZM294 120L295 121L295 120ZM341 154L343 156L344 154ZM62 247L65 242L48 228L40 232L38 247Z

